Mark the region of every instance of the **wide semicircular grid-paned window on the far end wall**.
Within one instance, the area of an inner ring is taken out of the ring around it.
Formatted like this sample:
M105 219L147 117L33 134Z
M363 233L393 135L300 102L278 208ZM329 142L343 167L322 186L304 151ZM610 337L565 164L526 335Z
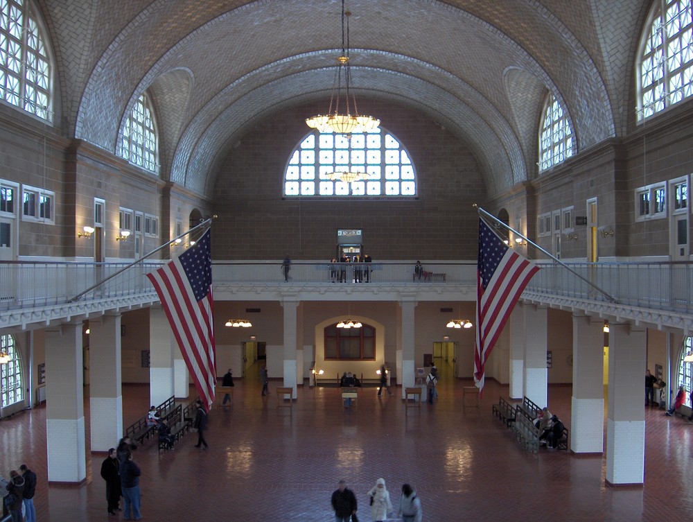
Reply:
M365 173L344 182L331 173ZM365 134L310 132L292 151L284 172L285 196L412 197L414 165L400 141L382 126Z

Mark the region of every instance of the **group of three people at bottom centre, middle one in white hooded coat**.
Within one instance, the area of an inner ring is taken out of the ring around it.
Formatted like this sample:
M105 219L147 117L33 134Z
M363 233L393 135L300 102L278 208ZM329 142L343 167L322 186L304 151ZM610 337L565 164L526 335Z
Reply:
M371 518L375 522L385 521L388 515L394 512L384 478L376 480L376 485L368 491L367 498L371 507ZM339 488L332 494L332 509L335 510L336 522L358 522L356 495L347 488L347 482L344 480L340 480ZM402 485L397 511L403 522L421 522L421 500L409 484Z

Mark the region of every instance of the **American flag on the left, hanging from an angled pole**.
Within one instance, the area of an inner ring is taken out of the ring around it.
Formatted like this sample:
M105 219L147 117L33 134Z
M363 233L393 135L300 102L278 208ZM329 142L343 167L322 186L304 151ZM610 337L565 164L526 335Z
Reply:
M209 230L177 259L147 277L159 294L188 372L209 410L216 385Z

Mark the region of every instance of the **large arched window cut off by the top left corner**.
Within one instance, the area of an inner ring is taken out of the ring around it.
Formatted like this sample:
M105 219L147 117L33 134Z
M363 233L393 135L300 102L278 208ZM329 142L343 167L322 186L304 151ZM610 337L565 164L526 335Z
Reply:
M0 0L0 99L52 121L51 60L33 7Z

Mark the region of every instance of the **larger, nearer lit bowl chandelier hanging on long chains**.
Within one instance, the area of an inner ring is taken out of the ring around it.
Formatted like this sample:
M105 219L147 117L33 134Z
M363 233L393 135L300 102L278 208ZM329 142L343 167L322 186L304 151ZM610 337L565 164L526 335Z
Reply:
M349 16L351 12L344 11L344 0L342 0L342 54L337 58L337 70L332 86L330 97L330 107L327 114L317 114L306 119L306 125L319 132L335 132L337 134L351 134L352 132L368 132L380 125L380 120L373 116L358 114L356 107L356 96L351 88L351 63L349 57ZM344 21L346 19L347 30L344 31ZM345 38L346 35L346 38ZM342 78L344 86L342 87ZM343 101L342 101L342 98ZM344 107L340 107L344 104ZM344 113L340 114L340 109ZM352 114L353 111L353 114ZM342 179L342 181L345 181Z

